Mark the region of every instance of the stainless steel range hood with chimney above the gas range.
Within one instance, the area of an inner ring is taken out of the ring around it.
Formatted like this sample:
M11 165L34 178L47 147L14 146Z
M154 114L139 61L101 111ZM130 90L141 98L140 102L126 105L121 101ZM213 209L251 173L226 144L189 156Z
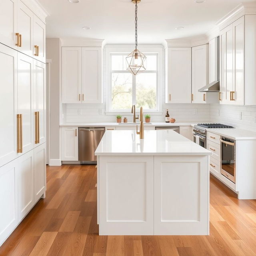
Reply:
M214 43L215 48L212 49L212 52L214 54L210 54L210 60L209 64L210 66L214 66L214 71L212 68L210 68L210 72L212 70L213 74L209 74L210 80L215 79L215 81L211 82L210 84L207 84L203 88L200 88L198 92L219 92L220 91L220 37L215 38L215 43ZM211 56L213 56L211 58ZM212 76L213 76L213 79ZM214 78L215 77L215 78Z

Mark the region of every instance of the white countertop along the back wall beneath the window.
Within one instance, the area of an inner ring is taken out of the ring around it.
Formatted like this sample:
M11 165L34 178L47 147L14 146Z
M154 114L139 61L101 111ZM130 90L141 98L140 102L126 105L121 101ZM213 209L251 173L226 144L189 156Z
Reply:
M192 123L192 122L177 122L177 123L166 123L166 122L150 122L149 124L144 123L146 126L194 126L198 123ZM128 123L128 124L118 124L114 122L102 122L102 123L65 123L60 124L60 127L70 127L70 126L76 126L76 127L106 127L106 126L136 126L140 125L140 122L134 123Z

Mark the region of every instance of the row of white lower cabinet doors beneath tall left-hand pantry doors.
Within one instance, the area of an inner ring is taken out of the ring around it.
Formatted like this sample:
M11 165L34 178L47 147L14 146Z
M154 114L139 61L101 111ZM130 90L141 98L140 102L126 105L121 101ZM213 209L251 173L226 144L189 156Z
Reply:
M46 191L45 151L46 143L0 167L0 246Z

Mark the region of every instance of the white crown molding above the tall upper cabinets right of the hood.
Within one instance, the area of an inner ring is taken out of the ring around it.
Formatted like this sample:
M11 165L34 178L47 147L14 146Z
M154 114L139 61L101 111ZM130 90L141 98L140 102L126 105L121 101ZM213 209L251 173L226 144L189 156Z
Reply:
M246 14L256 14L256 2L244 2L239 4L231 12L221 18L216 25L220 30L233 23L238 18Z

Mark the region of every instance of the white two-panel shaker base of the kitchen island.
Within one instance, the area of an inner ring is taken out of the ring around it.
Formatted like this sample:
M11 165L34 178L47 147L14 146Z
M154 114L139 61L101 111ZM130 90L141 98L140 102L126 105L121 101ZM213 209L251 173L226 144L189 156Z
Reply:
M98 156L100 235L208 235L203 156Z

